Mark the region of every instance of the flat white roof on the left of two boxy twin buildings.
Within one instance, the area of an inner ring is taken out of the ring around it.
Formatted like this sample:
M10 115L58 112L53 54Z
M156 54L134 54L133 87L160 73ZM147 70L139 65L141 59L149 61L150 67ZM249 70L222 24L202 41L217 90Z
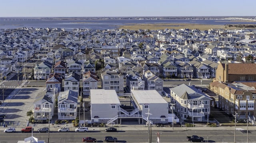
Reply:
M120 104L116 90L91 89L91 104Z

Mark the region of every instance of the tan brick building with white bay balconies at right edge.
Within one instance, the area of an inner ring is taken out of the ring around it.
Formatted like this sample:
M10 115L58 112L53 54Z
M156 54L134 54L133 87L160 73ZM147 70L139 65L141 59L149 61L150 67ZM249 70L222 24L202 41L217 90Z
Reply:
M254 82L255 86L255 82ZM254 123L256 116L256 89L241 82L210 83L210 90L219 96L217 106L226 114L233 115L235 112L239 118L249 119Z

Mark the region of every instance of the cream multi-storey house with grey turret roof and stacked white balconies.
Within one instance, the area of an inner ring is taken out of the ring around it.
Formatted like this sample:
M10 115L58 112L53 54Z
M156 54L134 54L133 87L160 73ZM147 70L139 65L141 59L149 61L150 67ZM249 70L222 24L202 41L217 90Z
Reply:
M211 98L193 86L181 84L170 88L174 112L181 120L206 121L210 116Z

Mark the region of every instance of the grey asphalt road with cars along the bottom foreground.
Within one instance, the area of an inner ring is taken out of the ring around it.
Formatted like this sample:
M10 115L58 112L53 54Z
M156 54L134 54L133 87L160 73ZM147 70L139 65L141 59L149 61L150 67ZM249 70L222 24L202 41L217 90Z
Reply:
M188 130L188 131L158 131L160 133L160 141L162 143L186 143L186 136L198 135L204 137L204 139L209 143L219 142L219 143L231 143L234 142L234 131L202 131L202 130ZM156 142L157 131L152 131L152 142ZM256 131L249 131L248 142L255 142L256 136L254 135ZM26 137L30 137L31 133L0 133L1 143L16 143L18 140L24 140ZM146 143L148 142L148 131L118 131L115 133L105 132L105 131L89 131L86 133L49 133L50 143L79 143L82 142L83 137L94 137L98 142L104 142L105 136L117 137L119 143ZM38 138L38 140L48 141L48 133L33 133L33 136ZM236 131L236 142L246 142L247 133L246 131ZM4 142L5 141L5 142Z

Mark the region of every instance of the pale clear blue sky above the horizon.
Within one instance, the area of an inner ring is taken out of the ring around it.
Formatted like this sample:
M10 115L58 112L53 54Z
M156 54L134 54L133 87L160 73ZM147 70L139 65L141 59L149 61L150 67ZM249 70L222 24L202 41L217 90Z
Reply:
M256 16L256 0L2 0L0 17Z

